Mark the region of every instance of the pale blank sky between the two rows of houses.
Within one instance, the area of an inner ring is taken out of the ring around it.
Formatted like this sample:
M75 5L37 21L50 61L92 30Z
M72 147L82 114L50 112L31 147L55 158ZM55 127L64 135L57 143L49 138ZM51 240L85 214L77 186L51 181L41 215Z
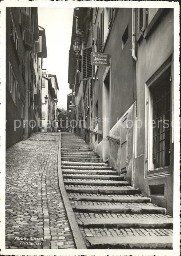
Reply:
M45 29L47 58L43 68L54 74L58 80L58 107L67 108L68 50L72 34L73 8L38 8L38 25Z

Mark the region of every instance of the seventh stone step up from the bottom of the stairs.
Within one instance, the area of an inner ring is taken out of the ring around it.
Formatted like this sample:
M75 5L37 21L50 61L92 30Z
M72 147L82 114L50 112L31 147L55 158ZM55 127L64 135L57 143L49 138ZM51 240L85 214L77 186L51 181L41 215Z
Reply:
M76 174L63 174L64 178L72 178L72 179L101 179L101 180L119 180L123 181L124 177L123 176L116 176L116 175L101 175L100 174L79 174L75 172Z

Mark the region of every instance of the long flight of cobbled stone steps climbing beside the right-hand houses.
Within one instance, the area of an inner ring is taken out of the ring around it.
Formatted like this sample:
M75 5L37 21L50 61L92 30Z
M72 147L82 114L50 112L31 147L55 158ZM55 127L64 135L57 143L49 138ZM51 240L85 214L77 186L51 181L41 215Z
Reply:
M87 249L172 249L173 219L80 136L61 134L64 185Z

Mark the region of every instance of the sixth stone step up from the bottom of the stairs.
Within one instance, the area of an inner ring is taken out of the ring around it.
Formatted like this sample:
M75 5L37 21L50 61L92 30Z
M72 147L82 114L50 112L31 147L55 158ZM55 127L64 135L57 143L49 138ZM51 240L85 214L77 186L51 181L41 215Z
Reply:
M90 180L90 179L64 179L66 185L95 185L95 186L129 186L129 181L115 181L115 180Z

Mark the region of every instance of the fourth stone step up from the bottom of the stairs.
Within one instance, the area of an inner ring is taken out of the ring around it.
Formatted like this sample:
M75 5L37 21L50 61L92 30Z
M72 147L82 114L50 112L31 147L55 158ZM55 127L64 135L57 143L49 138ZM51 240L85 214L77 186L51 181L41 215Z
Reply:
M94 195L69 193L70 200L90 202L151 203L149 197L141 195Z

